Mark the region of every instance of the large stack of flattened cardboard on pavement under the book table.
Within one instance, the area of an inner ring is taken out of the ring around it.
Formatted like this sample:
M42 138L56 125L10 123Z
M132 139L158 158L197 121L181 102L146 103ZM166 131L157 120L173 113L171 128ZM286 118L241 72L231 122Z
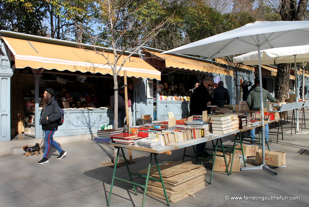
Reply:
M194 165L189 162L163 162L159 164L165 190L170 202L177 202L205 187L206 169L203 165ZM139 173L147 173L147 169ZM150 176L160 179L156 166L150 169ZM149 180L147 194L165 199L162 184L159 181Z

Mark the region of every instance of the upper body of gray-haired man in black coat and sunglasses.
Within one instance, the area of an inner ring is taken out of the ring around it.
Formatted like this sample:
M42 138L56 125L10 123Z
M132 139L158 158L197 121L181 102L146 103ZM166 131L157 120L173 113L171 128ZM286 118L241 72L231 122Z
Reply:
M208 113L211 112L211 108L207 106L214 103L214 99L208 92L212 83L211 78L205 77L202 83L194 90L190 99L190 116L202 115L203 111L208 111Z

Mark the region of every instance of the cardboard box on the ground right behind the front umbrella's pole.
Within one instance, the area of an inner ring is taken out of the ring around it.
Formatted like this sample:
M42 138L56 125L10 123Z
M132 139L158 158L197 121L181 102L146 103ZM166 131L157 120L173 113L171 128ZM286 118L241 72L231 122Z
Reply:
M262 164L262 149L256 151L255 162ZM286 153L265 150L265 164L280 167L286 164Z

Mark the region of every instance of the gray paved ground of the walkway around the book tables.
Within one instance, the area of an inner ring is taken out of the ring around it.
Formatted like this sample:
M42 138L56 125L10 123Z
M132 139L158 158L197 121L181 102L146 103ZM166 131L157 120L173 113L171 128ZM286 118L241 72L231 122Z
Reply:
M284 132L290 130L290 126L285 124ZM303 131L309 132L309 121L307 129ZM206 162L207 186L195 193L195 197L186 197L170 203L170 206L309 206L309 134L290 136L290 133L284 133L284 140L280 136L278 143L277 128L270 129L269 134L273 141L270 149L286 152L286 167L277 168L277 175L264 170L240 171L229 176L224 172L214 172L209 185L212 164ZM233 136L224 138L224 144L231 145L233 139ZM42 165L36 162L43 155L0 156L0 206L106 206L113 169L100 163L112 159L113 149L93 140L64 144L62 148L67 151L64 158L57 160L58 152L53 148L49 163ZM193 153L192 148L188 151ZM128 151L125 150L125 153ZM181 161L182 153L183 149L179 149L171 155L157 157L159 162ZM133 150L132 154L135 163L129 165L131 171L138 172L146 168L149 153ZM128 154L126 156L128 158ZM189 160L196 164L193 158L186 159ZM249 157L247 165L253 166L253 160ZM116 176L129 180L126 167L118 168ZM144 184L143 178L133 178L134 182ZM131 184L115 180L110 206L141 206L143 189L137 189L138 195L135 196ZM225 196L300 196L300 200L226 200ZM163 207L166 202L146 196L145 206Z

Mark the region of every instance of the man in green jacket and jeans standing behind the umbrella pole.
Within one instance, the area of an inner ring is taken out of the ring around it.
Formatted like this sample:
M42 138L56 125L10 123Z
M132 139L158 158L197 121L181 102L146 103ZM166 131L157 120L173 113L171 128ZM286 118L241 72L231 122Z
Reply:
M254 84L256 87L250 91L247 97L247 104L249 106L249 109L252 111L260 111L261 108L261 98L260 98L260 92L261 92L261 87L260 87L260 81L255 80ZM267 99L271 102L278 102L277 99L273 98L273 96L269 93L268 90L263 89L263 108L267 108L266 101ZM268 131L269 127L268 124L265 124L265 139L268 142L268 144L271 144L271 141L268 141ZM251 144L255 144L255 128L250 130L250 138L251 138ZM266 145L266 144L265 144Z

